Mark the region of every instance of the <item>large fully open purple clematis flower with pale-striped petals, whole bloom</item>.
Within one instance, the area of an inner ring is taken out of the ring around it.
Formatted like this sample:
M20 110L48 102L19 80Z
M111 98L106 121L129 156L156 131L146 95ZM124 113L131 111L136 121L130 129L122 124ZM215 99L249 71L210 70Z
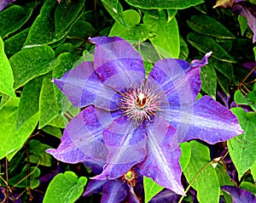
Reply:
M69 70L55 85L76 107L58 149L47 152L68 163L103 166L95 179L116 179L138 166L156 183L184 195L178 142L209 144L243 133L236 116L209 96L196 100L200 67L211 53L191 64L161 59L145 77L143 59L119 37L95 37L94 61Z

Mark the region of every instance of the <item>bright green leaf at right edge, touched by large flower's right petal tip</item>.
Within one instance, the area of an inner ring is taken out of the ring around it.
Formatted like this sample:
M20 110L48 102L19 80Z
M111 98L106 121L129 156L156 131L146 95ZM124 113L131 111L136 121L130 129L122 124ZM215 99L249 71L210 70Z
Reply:
M228 141L230 157L236 166L240 179L256 160L256 113L246 113L240 107L231 110L237 116L241 128L244 130L244 134Z

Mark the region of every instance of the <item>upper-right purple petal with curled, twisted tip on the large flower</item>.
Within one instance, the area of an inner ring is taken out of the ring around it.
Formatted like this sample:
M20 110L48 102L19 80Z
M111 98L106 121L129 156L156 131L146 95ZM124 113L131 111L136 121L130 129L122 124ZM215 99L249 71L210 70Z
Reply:
M165 93L172 105L189 104L195 101L201 88L200 69L207 64L210 53L202 60L193 60L191 65L180 59L161 59L148 75L148 82Z

